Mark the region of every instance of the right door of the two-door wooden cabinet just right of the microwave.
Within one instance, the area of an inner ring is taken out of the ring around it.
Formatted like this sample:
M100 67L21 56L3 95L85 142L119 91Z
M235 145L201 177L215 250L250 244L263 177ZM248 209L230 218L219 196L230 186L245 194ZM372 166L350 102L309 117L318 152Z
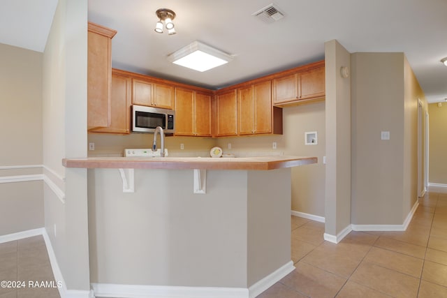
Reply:
M195 129L194 134L200 137L210 137L211 131L211 96L196 92L195 98Z

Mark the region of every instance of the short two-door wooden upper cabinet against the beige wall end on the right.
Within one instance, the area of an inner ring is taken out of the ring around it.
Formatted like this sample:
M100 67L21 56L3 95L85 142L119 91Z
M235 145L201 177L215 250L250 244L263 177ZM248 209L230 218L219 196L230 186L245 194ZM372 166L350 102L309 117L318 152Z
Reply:
M286 70L283 74L279 73L273 80L274 105L285 107L324 99L324 61Z

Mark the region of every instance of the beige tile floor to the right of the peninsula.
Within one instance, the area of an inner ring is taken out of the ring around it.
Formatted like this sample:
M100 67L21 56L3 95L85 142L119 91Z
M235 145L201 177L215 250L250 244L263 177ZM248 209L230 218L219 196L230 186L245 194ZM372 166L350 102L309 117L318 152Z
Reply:
M447 297L447 195L430 193L405 232L323 240L324 224L292 216L296 269L258 298Z

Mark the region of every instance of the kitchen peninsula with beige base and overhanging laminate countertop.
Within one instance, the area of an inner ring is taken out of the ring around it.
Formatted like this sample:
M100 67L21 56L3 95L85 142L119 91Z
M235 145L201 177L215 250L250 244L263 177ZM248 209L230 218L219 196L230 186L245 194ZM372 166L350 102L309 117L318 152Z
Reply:
M64 159L66 167L89 169L95 295L256 297L294 268L291 167L316 162L296 156ZM133 169L133 193L123 192L124 169ZM202 194L194 193L197 179L206 183Z

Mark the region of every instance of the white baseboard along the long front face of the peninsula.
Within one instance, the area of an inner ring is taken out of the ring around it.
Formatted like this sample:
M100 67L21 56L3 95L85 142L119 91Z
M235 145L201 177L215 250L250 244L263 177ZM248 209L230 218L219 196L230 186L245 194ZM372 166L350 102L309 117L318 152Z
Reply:
M179 287L164 285L117 285L92 283L95 297L116 298L248 298L246 288Z

